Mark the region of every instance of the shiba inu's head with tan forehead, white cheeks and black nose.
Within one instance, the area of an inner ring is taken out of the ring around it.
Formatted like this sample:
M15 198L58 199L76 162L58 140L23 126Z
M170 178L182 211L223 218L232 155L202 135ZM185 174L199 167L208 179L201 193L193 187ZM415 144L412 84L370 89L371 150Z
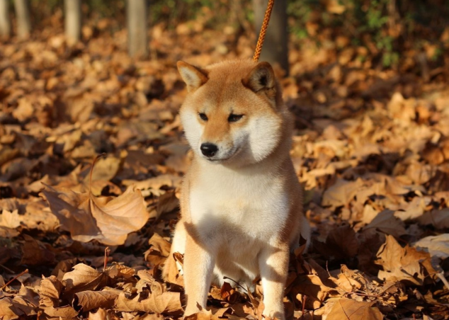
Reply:
M180 115L193 152L216 164L251 164L282 136L283 103L268 62L234 60L200 69L178 62L188 96Z

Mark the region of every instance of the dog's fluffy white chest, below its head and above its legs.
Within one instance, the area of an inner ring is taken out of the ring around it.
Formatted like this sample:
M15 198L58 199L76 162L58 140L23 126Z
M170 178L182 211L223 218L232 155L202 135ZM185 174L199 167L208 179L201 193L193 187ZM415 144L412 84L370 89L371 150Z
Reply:
M191 217L200 236L268 240L278 235L288 215L282 183L262 174L215 168L201 173L191 188Z

